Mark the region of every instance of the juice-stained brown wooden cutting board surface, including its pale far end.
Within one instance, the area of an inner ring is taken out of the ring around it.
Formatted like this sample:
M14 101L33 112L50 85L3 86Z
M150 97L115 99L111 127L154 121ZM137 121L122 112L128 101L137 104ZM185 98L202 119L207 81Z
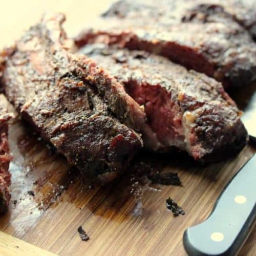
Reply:
M0 15L1 47L18 38L46 10L67 13L66 29L72 34L109 2L5 2L7 8ZM177 172L182 186L142 186L132 169L113 184L91 186L18 116L10 125L10 147L12 199L8 214L0 219L0 230L58 255L185 255L184 230L207 218L223 187L255 153L248 145L232 159L207 165L184 154L144 154L145 161L158 163L164 172ZM173 217L166 209L169 196L183 207L184 216ZM81 241L79 226L89 241ZM239 255L255 255L255 231Z

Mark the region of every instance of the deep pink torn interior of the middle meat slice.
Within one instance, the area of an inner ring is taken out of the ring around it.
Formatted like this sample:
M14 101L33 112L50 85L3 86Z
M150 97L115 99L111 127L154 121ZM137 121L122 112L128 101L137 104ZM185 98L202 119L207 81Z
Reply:
M125 90L140 105L144 105L147 124L163 146L184 148L182 113L178 104L171 99L170 92L158 85L140 85L135 82L125 84Z

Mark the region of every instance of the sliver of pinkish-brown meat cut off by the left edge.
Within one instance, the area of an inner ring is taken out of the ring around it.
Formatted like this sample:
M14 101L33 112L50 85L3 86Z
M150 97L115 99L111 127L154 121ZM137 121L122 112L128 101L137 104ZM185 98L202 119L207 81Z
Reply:
M8 204L11 199L9 186L11 184L11 174L9 173L9 163L11 156L9 154L8 144L8 124L11 118L10 114L0 108L0 216L8 210Z

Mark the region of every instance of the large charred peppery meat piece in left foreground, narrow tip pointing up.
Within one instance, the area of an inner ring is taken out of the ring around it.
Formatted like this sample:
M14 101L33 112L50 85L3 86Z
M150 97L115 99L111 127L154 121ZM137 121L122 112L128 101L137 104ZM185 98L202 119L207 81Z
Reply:
M95 62L70 53L62 14L45 15L5 56L5 94L81 173L114 179L142 147L145 113Z

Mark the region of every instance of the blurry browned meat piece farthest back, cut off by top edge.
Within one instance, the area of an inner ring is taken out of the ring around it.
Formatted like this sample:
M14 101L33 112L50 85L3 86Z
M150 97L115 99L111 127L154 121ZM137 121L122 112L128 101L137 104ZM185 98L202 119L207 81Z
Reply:
M102 16L139 18L141 14L174 24L184 22L190 15L205 22L205 12L229 16L246 28L256 40L256 8L251 0L121 0L114 3Z

